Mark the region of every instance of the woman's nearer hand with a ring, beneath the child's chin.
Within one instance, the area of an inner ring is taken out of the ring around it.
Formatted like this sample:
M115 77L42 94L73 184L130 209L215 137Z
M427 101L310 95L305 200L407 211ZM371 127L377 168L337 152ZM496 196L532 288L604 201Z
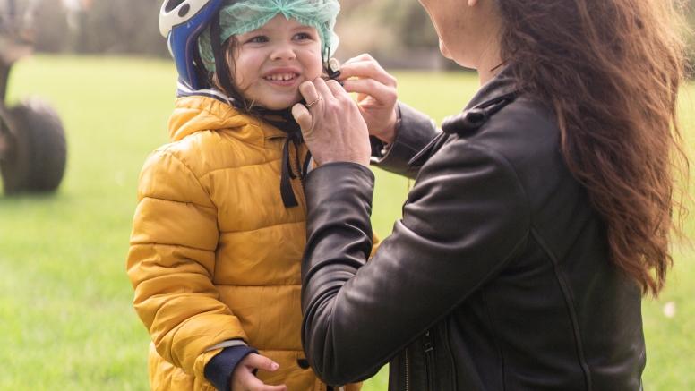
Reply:
M299 85L299 92L309 103L296 104L292 115L302 127L316 163L347 161L369 166L372 147L367 125L338 81L305 81Z

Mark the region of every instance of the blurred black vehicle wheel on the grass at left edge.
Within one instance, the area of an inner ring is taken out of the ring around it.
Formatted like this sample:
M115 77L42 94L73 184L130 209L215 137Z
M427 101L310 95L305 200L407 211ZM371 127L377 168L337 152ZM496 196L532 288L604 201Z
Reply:
M55 191L65 171L67 148L63 123L39 99L12 107L4 121L12 136L9 153L0 162L6 194Z

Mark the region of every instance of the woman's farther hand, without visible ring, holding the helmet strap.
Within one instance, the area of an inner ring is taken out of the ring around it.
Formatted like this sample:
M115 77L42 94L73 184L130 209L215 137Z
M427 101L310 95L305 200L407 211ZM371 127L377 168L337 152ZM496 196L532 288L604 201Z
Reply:
M356 79L349 79L355 77ZM386 143L396 138L396 78L384 71L371 55L358 55L340 67L337 80L348 92L357 93L357 106L369 134Z

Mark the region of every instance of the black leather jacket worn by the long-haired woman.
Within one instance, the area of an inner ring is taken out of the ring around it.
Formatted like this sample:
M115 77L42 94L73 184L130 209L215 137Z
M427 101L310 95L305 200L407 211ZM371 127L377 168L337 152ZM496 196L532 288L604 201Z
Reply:
M468 107L513 91L497 76ZM303 344L332 385L390 362L390 390L639 390L640 290L569 173L553 115L521 94L476 131L437 136L401 106L379 160L416 183L376 255L373 174L332 163L305 179Z

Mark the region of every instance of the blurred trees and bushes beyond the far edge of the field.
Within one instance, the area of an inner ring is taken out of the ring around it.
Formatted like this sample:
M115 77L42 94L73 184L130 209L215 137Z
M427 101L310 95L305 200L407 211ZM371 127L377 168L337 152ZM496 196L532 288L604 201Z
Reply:
M162 0L93 0L87 11L73 11L70 18L66 18L65 1L42 0L39 51L168 56L159 35ZM681 1L684 19L695 27L695 0ZM336 25L340 60L370 53L390 67L459 68L439 55L437 33L418 0L340 0L340 4ZM692 32L684 36L695 48ZM695 64L695 57L691 63Z

